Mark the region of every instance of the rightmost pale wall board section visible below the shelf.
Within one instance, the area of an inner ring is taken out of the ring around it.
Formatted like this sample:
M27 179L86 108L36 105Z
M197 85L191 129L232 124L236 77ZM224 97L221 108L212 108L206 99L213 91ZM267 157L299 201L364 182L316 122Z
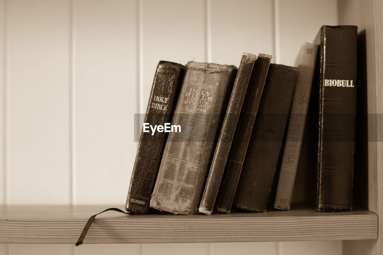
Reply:
M342 255L342 241L280 242L279 255Z

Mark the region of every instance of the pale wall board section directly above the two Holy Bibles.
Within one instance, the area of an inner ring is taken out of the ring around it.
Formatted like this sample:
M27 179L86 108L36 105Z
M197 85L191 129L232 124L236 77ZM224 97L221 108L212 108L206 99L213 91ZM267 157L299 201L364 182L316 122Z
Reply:
M142 0L142 113L159 60L206 61L205 1Z

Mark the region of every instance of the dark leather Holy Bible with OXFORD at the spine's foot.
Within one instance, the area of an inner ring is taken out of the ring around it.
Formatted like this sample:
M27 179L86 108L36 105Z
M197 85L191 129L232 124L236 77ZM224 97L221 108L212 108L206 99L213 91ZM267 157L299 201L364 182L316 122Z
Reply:
M181 64L168 61L158 63L144 123L164 125L170 122L185 70L185 66ZM155 132L152 135L151 132L142 130L126 199L126 211L133 214L148 212L167 134Z

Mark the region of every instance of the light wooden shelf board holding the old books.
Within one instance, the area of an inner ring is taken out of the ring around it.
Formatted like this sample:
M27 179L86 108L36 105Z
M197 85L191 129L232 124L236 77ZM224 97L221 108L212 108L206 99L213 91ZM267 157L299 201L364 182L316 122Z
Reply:
M105 206L1 206L0 242L75 244L88 218ZM120 206L121 207L121 206ZM303 204L266 213L96 217L84 243L258 242L378 238L375 213L316 212Z

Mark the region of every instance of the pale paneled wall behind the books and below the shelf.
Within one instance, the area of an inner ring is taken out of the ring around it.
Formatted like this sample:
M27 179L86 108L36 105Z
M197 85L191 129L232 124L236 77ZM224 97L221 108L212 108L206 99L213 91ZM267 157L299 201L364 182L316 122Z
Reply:
M123 208L159 60L295 65L323 24L336 0L0 0L0 204ZM342 242L0 244L26 253L339 255Z

